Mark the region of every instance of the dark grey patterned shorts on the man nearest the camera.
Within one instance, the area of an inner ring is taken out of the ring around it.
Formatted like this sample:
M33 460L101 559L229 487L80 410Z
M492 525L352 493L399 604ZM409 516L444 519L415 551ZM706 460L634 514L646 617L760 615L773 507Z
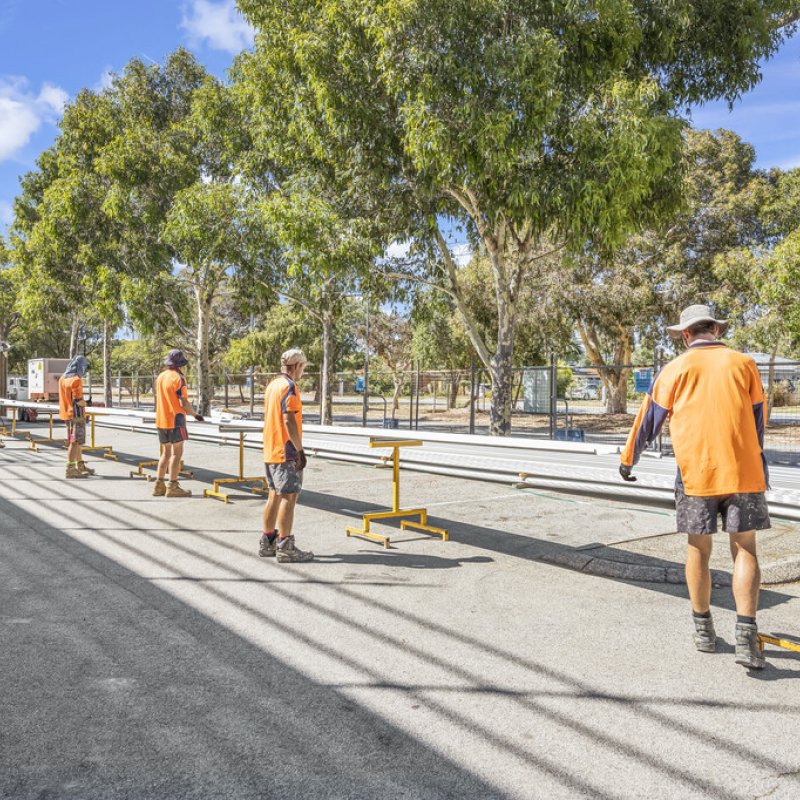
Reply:
M675 487L675 515L681 533L716 533L722 516L725 533L763 531L772 527L764 492L689 497L683 485Z

